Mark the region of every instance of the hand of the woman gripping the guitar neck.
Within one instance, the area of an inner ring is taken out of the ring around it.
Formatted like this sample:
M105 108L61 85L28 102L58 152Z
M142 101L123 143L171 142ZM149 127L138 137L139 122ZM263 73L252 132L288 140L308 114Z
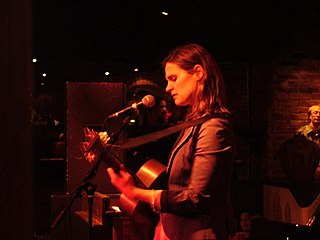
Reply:
M130 195L130 192L135 188L135 183L132 176L125 169L124 165L120 165L118 172L115 172L113 168L107 168L110 181L121 193Z

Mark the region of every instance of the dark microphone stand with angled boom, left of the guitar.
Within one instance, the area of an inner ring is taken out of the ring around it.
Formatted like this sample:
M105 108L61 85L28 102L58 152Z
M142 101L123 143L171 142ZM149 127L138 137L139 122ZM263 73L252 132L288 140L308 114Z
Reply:
M112 134L110 138L110 144L116 142L118 137L120 136L121 132L124 130L124 128L129 124L130 118L129 116L125 117L120 129L117 131L117 133ZM106 149L108 151L108 149ZM73 202L82 196L82 192L86 191L88 196L88 224L89 224L89 240L92 239L92 206L93 206L93 200L94 200L94 193L96 190L96 186L93 185L90 180L93 179L96 176L96 173L98 171L100 162L102 161L101 158L98 158L97 161L95 161L92 168L88 171L87 175L83 178L80 185L75 188L72 191L72 194L65 206L65 208L60 212L60 214L56 217L56 219L53 221L51 225L51 229L55 229L57 225L61 222L62 218L65 216L66 212L71 208Z

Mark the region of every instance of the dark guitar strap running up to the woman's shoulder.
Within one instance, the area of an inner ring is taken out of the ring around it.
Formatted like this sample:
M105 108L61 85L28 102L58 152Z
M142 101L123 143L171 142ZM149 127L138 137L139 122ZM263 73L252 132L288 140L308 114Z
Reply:
M205 121L207 121L207 120L209 120L210 118L213 118L213 117L224 117L225 118L225 115L222 114L222 113L216 113L214 115L212 115L212 114L211 115L206 115L204 117L201 117L201 118L198 118L198 119L195 119L195 120L192 120L192 121L186 121L186 122L177 124L177 125L175 125L173 127L168 127L166 129L163 129L163 130L159 130L159 131L156 131L156 132L148 133L148 134L145 134L145 135L142 135L142 136L139 136L139 137L135 137L135 138L129 138L120 147L123 148L123 149L129 149L129 148L134 148L134 147L138 147L138 146L144 145L146 143L154 142L154 141L156 141L156 140L158 140L160 138L163 138L163 137L169 136L169 135L171 135L173 133L182 131L183 129L186 129L188 127L201 124L201 123L203 123L203 122L205 122Z

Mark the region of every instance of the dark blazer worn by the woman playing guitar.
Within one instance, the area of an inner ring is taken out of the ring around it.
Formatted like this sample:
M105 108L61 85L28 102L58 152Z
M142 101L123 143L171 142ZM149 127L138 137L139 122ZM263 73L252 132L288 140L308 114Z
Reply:
M163 229L171 240L228 239L234 138L227 118L184 130L170 154L161 193Z

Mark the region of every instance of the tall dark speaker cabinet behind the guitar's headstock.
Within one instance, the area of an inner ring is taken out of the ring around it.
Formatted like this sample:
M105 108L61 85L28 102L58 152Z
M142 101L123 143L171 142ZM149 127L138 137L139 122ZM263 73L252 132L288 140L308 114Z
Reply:
M123 83L66 83L67 105L67 167L66 190L72 192L91 171L92 164L83 157L80 144L84 140L83 128L101 130L106 117L121 110L125 103L125 85ZM117 133L122 119L108 122L108 134ZM123 134L119 136L119 143ZM123 151L117 150L119 160L123 161ZM111 185L102 162L91 181L101 193L117 192Z

